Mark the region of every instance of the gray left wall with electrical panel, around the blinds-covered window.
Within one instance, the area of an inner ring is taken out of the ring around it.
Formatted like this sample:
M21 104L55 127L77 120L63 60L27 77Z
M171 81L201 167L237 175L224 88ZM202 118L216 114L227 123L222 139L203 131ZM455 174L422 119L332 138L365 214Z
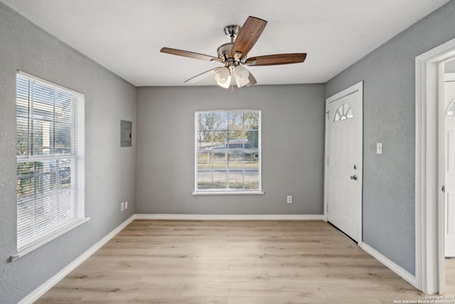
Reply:
M17 303L134 213L136 88L0 3L0 303ZM85 94L86 224L10 263L16 253L16 70ZM121 201L129 209L120 212Z

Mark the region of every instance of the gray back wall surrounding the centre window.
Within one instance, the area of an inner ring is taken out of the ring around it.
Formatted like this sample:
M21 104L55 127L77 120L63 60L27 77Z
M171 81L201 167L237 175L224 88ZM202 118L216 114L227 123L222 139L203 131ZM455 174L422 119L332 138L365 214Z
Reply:
M139 88L137 213L322 214L323 85ZM193 196L195 110L262 111L264 195ZM287 204L286 196L293 196Z

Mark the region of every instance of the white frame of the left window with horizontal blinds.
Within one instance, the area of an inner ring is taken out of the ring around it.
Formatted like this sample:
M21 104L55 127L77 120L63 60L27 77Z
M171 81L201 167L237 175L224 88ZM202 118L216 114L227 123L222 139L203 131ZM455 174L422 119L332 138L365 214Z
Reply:
M81 224L84 224L88 220L90 220L90 217L85 217L85 95L82 93L78 93L74 90L70 90L68 88L65 88L63 86L57 85L55 83L51 83L48 80L43 80L41 78L38 78L34 75L30 75L28 73L24 73L22 71L17 72L17 75L21 75L24 78L28 78L28 80L33 81L34 83L41 83L41 85L46 85L53 90L60 90L60 91L65 91L66 93L70 93L73 95L74 98L76 98L77 103L75 105L75 110L77 113L77 127L76 130L73 133L72 136L75 136L77 138L77 147L73 149L71 148L70 154L55 154L55 151L53 151L53 154L44 154L44 155L33 155L33 153L28 153L28 155L23 156L23 155L18 155L17 156L17 161L16 164L18 163L23 163L23 162L45 162L49 160L58 160L58 159L75 159L75 168L77 168L77 177L76 174L73 174L71 177L77 179L77 189L74 190L75 195L73 196L74 199L74 204L77 204L77 215L74 216L73 219L70 221L65 221L65 223L61 223L58 226L55 226L56 228L53 230L50 230L45 234L44 236L41 236L39 239L33 239L29 243L27 243L24 246L21 246L21 248L17 248L17 253L11 256L11 261L15 261L18 258L21 258L22 256L25 256L27 253L30 253L31 251L35 250L36 248L39 248L45 243L48 243L52 241L53 239L58 238L58 236L61 236L65 234L66 232L75 229L77 226L80 226ZM29 97L30 99L30 97ZM30 102L29 102L30 103ZM30 111L30 106L28 106L28 110ZM17 117L17 114L16 114ZM73 117L73 116L72 116ZM16 118L17 119L17 118ZM28 123L30 124L31 122L31 117L28 117ZM72 118L73 119L73 118ZM29 132L29 131L28 131ZM29 133L30 134L30 133ZM29 135L30 136L30 135ZM28 140L30 141L30 140ZM72 140L74 143L75 141ZM28 143L30 145L30 142ZM27 148L28 151L30 151L30 147ZM75 152L77 151L77 152ZM49 192L50 195L55 195L55 192L52 190ZM49 195L48 194L48 195ZM18 212L18 211L17 211ZM18 219L19 219L19 214L18 214Z

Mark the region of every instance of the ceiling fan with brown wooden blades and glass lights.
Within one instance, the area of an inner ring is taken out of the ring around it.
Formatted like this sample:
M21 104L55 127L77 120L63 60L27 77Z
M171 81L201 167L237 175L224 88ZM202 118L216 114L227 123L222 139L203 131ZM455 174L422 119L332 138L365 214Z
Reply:
M230 38L230 43L225 43L218 48L218 58L200 53L177 50L176 48L161 48L161 53L171 55L200 59L220 63L223 67L213 68L204 73L194 76L185 81L185 83L196 83L203 78L213 75L218 85L223 88L229 88L234 85L237 87L255 85L255 77L243 65L282 65L289 63L302 63L305 61L306 53L287 53L274 54L267 56L257 56L247 58L262 31L264 31L267 21L256 17L248 17L247 21L240 26L226 26L224 31Z

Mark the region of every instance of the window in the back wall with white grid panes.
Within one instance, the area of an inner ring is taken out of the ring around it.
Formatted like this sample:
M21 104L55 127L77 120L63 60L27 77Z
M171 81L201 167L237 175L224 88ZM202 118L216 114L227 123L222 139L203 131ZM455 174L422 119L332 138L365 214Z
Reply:
M195 194L261 193L261 112L196 112Z

